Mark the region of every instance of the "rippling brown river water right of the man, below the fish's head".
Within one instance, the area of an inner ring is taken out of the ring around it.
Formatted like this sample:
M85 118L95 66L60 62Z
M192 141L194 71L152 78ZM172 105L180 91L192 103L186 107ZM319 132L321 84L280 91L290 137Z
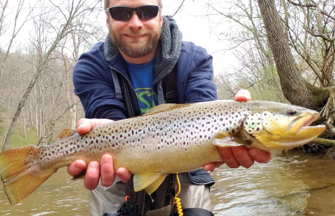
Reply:
M215 215L335 215L335 161L276 152L268 164L213 172Z

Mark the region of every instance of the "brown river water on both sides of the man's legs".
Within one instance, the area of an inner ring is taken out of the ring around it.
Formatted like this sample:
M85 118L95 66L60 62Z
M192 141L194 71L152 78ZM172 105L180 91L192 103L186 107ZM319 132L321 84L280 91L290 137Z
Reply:
M215 215L223 216L335 216L335 160L300 152L274 152L267 164L211 173ZM89 215L82 181L66 183L66 168L39 189L11 206L0 183L0 215ZM181 200L183 204L183 201Z

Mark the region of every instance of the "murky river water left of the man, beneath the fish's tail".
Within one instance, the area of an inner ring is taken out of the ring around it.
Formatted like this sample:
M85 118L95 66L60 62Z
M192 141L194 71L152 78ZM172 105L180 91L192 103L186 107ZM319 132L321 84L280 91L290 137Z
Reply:
M0 181L0 215L89 215L87 192L82 181L67 183L70 178L63 167L14 206L9 204Z

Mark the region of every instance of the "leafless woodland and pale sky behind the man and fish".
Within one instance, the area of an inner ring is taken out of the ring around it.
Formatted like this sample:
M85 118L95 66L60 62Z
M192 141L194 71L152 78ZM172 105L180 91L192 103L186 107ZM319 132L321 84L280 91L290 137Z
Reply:
M253 99L318 110L327 132L302 149L335 157L334 0L163 5L183 39L213 55L219 99L244 88ZM72 70L105 40L103 1L0 0L0 7L0 147L52 143L84 117Z

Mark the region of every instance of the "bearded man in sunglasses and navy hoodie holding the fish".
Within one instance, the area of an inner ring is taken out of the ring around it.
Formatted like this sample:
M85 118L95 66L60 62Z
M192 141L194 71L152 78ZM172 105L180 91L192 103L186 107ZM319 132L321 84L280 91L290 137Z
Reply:
M82 54L73 71L75 93L88 118L78 121L79 134L87 133L93 126L129 117L129 109L120 101L120 80L125 80L126 88L129 86L135 116L164 103L163 78L174 68L180 103L216 99L212 57L203 48L182 42L175 20L161 16L162 7L160 0L105 0L109 28L106 41ZM248 91L236 95L236 100L249 99ZM255 160L266 163L271 158L269 152L247 150L243 146L218 149L224 163L231 168L250 167ZM209 163L204 169L180 173L179 197L184 215L191 215L187 209L195 208L203 209L202 215L213 215L208 187L214 181L204 170L213 170L222 163ZM68 172L78 175L85 167L84 161L77 160L68 167ZM90 215L119 209L126 196L124 183L130 178L131 173L125 168L114 173L109 154L102 157L100 165L97 161L90 162L84 178L85 188L92 190L89 191ZM160 195L161 192L157 197ZM134 203L133 207L127 209L131 211L129 215L144 215L141 203ZM176 208L171 212L176 212Z

